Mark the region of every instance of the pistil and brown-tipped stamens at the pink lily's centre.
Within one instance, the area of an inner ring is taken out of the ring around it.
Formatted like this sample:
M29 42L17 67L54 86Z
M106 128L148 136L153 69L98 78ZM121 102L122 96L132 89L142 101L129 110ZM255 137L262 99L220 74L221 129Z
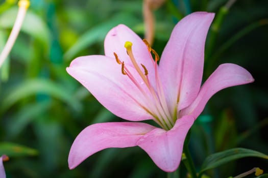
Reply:
M142 79L142 83L146 85L148 88L148 92L145 92L144 86L142 87L140 82L138 82L137 78L134 77L133 73L130 72L128 67L125 65L124 61L120 61L117 54L114 52L115 60L116 62L121 65L121 73L123 75L128 76L128 78L135 84L135 86L138 88L138 90L142 93L143 97L146 100L146 105L142 105L141 103L138 104L149 114L151 114L154 117L154 121L161 126L165 130L170 130L177 119L176 111L172 112L169 110L165 96L163 91L163 86L160 81L159 75L158 75L158 65L157 61L159 61L159 55L156 53L154 49L151 48L149 43L146 40L143 40L143 42L147 45L149 52L153 53L155 55L155 60L153 60L153 57L151 57L151 61L154 65L154 74L155 76L150 77L151 79L155 79L155 87L150 82L149 75L153 74L150 73L148 69L143 65L138 65L137 61L135 60L133 51L132 51L132 43L127 41L125 43L125 48L127 49L127 54L130 58L130 61L135 69L135 71L138 73L140 78Z

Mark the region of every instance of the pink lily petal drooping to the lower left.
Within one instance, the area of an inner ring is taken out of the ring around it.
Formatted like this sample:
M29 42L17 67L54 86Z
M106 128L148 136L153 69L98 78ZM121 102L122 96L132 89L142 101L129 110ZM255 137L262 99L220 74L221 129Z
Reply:
M74 169L92 154L109 147L136 146L155 127L144 123L100 123L85 128L72 143L68 163Z

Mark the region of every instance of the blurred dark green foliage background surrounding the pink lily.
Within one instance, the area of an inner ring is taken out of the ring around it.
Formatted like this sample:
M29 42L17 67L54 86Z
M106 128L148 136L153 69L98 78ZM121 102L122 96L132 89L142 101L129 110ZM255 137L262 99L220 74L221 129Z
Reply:
M0 48L13 26L15 0L0 4ZM222 63L251 72L255 82L227 88L208 102L191 129L190 151L204 159L233 147L268 154L268 1L171 1L155 10L153 48L161 54L178 20L194 11L222 15L207 38L204 80ZM72 141L93 123L123 121L106 110L65 68L81 55L103 54L106 33L119 23L144 34L142 1L31 0L14 48L0 70L0 155L7 177L166 177L139 147L107 149L74 170L67 157ZM181 164L183 169L183 164ZM268 161L243 158L206 174L228 177Z

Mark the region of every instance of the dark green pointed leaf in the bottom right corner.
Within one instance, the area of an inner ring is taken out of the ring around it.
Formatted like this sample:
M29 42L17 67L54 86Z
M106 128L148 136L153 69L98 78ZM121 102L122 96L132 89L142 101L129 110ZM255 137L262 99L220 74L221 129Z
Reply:
M230 161L234 161L245 157L258 157L268 159L268 156L265 154L262 154L254 150L243 149L238 147L235 149L226 150L208 156L205 159L200 172L204 172L205 170L212 169L221 166L225 163L228 163Z

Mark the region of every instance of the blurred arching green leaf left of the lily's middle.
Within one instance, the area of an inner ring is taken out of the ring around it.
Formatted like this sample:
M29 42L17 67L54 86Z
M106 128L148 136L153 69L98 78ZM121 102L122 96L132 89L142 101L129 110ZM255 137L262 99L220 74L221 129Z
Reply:
M81 103L69 93L64 86L47 79L27 80L17 85L14 90L10 91L0 104L0 110L5 111L14 103L22 98L36 94L47 94L66 102L75 110L82 108Z

